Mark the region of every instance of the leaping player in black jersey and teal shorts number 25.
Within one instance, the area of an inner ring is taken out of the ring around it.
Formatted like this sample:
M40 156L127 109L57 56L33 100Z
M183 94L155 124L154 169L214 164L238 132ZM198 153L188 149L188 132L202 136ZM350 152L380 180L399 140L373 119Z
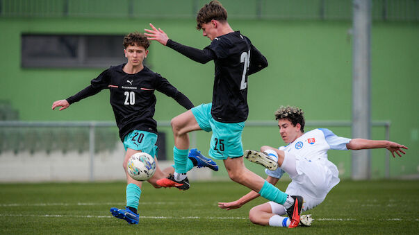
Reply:
M188 132L212 131L209 155L224 161L231 180L247 186L268 200L284 204L292 221L290 227L297 227L303 198L279 191L249 171L243 163L241 134L249 113L247 76L267 67L266 58L240 31L233 31L227 22L227 10L219 1L205 4L197 14L197 29L202 29L202 35L211 40L211 44L203 50L174 42L160 28L152 24L150 26L151 29L145 29L149 40L156 40L197 62L214 60L215 64L212 103L199 105L172 119L175 171L174 175L158 180L157 184L189 189L186 175Z

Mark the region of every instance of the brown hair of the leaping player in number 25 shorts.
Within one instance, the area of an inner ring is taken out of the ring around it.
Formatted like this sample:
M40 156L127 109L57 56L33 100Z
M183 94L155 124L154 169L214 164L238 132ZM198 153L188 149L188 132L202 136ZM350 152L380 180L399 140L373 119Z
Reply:
M220 1L211 1L199 10L197 15L197 30L202 28L202 24L206 24L212 19L222 22L227 21L227 10L221 5Z

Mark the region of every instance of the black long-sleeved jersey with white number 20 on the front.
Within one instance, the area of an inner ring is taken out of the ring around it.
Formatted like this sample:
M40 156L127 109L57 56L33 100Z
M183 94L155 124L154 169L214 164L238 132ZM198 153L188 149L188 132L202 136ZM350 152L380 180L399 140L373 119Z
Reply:
M67 101L71 104L97 94L102 89L109 89L110 105L112 105L122 141L124 141L124 136L133 130L157 134L157 123L153 119L156 105L155 90L174 98L186 109L193 107L189 99L160 74L154 73L147 67L138 73L125 73L122 70L124 65L120 64L106 69L91 81L89 87L67 98Z

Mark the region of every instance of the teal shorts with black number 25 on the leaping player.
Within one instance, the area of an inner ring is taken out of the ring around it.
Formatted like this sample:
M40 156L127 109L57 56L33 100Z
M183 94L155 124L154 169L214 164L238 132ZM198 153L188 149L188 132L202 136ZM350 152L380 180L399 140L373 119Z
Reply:
M199 127L206 132L213 131L208 155L214 159L243 156L242 132L245 122L220 123L211 115L212 103L202 104L192 108Z

